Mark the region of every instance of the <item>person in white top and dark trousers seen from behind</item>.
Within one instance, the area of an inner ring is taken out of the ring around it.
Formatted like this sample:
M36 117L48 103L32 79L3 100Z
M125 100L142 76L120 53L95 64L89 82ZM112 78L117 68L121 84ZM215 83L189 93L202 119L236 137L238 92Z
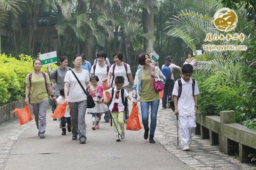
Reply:
M172 63L173 62L173 56L167 56L164 59L165 59L165 63L164 63L164 65L162 65L162 69L163 69L164 66L168 66L169 71L170 71L170 77L167 78L165 76L166 77L166 82L164 84L164 89L163 89L162 108L166 109L168 96L172 96L173 89L174 89L174 73L173 73L174 68L178 69L180 71L180 74L181 74L181 67Z

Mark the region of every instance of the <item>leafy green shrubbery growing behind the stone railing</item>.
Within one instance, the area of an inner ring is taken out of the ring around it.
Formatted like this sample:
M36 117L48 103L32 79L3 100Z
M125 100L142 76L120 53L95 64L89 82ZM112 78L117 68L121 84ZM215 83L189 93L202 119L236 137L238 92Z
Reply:
M247 69L242 63L227 62L211 75L205 72L195 74L200 90L199 113L218 115L223 110L234 110L236 121L240 124L255 118L255 85L246 77ZM255 126L250 125L250 128Z

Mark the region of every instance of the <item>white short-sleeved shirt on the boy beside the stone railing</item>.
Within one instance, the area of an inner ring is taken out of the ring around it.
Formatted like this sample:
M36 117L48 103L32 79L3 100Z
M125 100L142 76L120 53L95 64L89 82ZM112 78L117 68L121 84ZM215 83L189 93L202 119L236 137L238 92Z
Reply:
M183 78L181 78L182 90L181 95L178 100L178 110L179 115L188 116L195 115L195 101L193 97L193 88L192 88L192 78L190 78L189 82L185 82ZM174 84L173 95L178 96L179 84L178 80ZM195 83L195 91L194 95L199 95L199 89L197 86L197 81Z

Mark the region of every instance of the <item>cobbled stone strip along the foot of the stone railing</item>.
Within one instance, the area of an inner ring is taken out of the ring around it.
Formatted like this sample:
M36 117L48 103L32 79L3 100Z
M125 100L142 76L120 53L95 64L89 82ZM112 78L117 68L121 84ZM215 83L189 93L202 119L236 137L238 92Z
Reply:
M200 139L195 135L190 151L183 152L177 146L177 121L171 109L160 109L157 117L156 138L170 153L194 169L256 169L255 164L240 163L238 156L229 156L219 152L219 146L210 145L209 139ZM180 141L179 141L180 143Z

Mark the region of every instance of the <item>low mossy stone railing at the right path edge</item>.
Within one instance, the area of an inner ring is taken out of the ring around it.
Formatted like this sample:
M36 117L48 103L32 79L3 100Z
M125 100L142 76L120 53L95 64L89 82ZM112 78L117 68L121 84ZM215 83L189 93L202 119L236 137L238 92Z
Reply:
M220 151L238 154L240 162L250 162L248 155L256 153L256 131L237 124L234 111L221 111L220 116L198 115L196 134L219 145Z

